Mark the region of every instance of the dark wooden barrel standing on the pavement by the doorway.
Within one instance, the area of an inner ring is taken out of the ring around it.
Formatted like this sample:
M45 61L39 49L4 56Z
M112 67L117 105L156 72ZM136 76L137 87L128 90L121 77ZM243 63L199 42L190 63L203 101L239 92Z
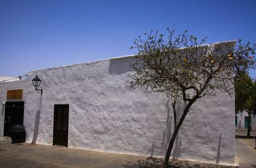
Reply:
M13 125L11 128L12 143L26 142L26 130L24 125Z

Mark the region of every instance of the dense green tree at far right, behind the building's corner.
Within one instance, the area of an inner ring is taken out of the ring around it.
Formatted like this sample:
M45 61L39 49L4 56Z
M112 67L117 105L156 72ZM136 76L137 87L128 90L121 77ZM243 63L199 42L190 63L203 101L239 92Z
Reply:
M236 80L236 114L248 113L247 136L250 137L250 123L252 114L256 112L256 81L244 72L243 77Z

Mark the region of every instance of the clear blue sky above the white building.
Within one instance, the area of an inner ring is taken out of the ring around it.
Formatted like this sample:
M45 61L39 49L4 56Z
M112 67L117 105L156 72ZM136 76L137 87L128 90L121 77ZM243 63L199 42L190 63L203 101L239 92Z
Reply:
M255 8L253 0L0 0L0 76L134 54L134 38L173 24L207 43L256 43Z

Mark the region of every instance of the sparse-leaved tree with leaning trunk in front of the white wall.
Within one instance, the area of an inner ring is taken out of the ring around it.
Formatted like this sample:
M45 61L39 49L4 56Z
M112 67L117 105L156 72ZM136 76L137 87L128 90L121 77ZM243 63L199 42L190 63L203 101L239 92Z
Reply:
M175 30L168 29L168 36L157 31L138 36L131 49L137 49L134 63L135 73L127 81L131 88L141 87L144 91L164 93L172 103L174 131L164 157L163 167L168 160L179 128L190 107L204 96L214 96L216 90L234 93L234 77L242 69L254 67L255 45L247 47L239 43L237 50L227 46L203 45L205 39L197 38L185 31L174 36ZM248 54L248 55L247 55ZM239 76L236 76L239 78ZM188 102L180 118L177 118L177 102Z

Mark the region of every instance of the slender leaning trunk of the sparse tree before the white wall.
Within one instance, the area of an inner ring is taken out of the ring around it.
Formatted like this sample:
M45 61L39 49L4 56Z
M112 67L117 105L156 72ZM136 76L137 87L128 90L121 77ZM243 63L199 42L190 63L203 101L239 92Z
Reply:
M169 146L168 146L168 149L166 151L166 155L164 157L164 162L163 162L162 168L168 168L168 162L169 162L170 155L171 155L171 152L172 152L173 144L174 144L176 136L179 132L180 126L182 125L186 115L188 114L189 108L191 107L191 105L193 105L193 103L196 101L196 99L191 100L191 102L188 103L188 105L186 106L186 108L184 109L184 111L182 113L181 118L179 119L179 122L177 123L177 126L175 127L175 129L173 131L172 138L169 142Z

